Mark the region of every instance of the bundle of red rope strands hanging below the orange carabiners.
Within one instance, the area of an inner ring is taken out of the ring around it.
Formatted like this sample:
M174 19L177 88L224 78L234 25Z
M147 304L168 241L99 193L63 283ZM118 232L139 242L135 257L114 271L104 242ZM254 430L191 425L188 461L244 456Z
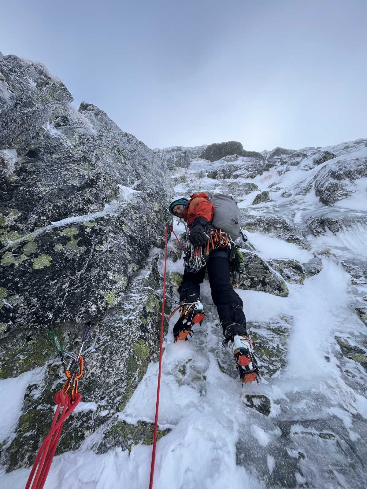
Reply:
M81 394L77 394L76 399L72 401L71 396L65 394L63 391L56 392L54 400L57 404L57 408L52 420L51 428L37 453L36 460L34 461L32 470L29 474L25 489L30 488L36 469L37 472L34 477L31 489L42 489L44 487L49 469L52 464L53 456L55 455L57 444L59 443L59 438L61 435L61 430L63 429L64 421L76 408L81 399ZM57 421L61 408L63 408L63 410L60 414L59 421Z

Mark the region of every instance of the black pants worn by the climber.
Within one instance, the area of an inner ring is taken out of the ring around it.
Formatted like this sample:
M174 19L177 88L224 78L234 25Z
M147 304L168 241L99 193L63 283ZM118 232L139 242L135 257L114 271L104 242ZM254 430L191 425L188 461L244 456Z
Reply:
M218 310L223 333L229 324L237 323L246 331L246 316L242 310L241 297L230 283L230 264L228 253L222 249L210 252L206 267L196 273L184 271L180 287L180 302L189 295L200 296L200 284L204 282L205 269L209 278L211 297Z

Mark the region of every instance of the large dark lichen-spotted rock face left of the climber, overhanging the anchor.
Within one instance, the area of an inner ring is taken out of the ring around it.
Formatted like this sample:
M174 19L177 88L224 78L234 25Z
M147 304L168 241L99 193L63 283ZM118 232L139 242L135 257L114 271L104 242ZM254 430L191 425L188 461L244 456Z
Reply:
M33 105L6 112L11 133L21 135L2 141L17 148L14 171L1 181L2 330L101 317L161 242L165 166L104 111L66 104L60 94L69 92L41 66L4 60L7 100L24 89L24 70L40 89L26 92ZM20 118L31 119L26 132L15 129Z

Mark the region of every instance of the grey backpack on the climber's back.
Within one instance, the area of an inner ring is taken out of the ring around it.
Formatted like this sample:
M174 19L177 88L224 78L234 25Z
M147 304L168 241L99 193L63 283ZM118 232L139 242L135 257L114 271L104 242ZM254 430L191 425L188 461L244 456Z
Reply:
M214 194L209 202L214 205L213 226L229 234L233 241L236 240L241 230L241 211L234 197Z

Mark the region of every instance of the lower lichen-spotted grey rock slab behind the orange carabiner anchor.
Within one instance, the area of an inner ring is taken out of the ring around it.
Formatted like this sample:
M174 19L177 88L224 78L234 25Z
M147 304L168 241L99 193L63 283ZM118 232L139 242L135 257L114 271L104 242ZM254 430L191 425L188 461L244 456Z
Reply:
M156 254L146 261L130 280L123 300L102 323L93 325L86 345L90 348L84 353L85 372L79 383L83 402L81 409L64 425L58 453L79 448L106 423L102 431L108 431L114 424L110 421L112 417L124 409L149 362L157 358L161 298L155 290L161 288L159 257L160 254ZM84 327L72 323L58 326L65 350L75 351L75 345L80 345ZM167 327L165 323L165 332ZM43 377L32 380L26 389L15 437L6 440L2 447L2 464L7 470L13 470L33 463L37 447L52 420L53 395L62 386L65 376L45 331L19 329L0 346L2 377L15 377L46 363ZM142 431L148 435L149 426ZM100 437L97 439L99 441ZM149 436L147 443L148 439ZM90 447L96 449L91 443Z

